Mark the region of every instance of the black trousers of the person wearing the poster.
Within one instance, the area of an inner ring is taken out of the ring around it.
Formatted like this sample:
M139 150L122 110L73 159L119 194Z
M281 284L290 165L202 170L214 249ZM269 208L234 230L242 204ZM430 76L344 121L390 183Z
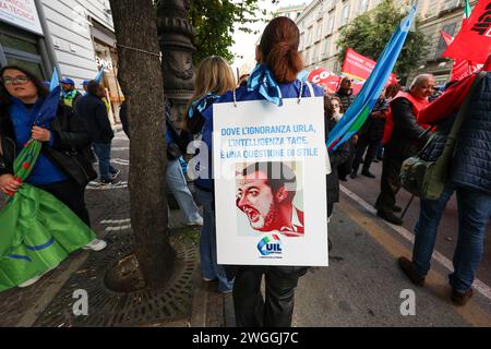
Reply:
M233 304L238 327L290 327L298 274L279 274L267 266L241 267L233 282ZM266 301L261 293L263 274Z

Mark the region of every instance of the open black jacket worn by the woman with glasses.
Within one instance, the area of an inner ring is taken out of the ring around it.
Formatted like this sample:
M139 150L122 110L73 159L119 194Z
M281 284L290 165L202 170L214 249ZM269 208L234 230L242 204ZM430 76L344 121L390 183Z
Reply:
M57 117L50 125L53 145L43 144L41 153L63 174L85 186L97 178L89 160L89 136L83 120L72 108L60 101ZM0 176L13 174L15 159L15 133L9 116L9 107L0 106Z

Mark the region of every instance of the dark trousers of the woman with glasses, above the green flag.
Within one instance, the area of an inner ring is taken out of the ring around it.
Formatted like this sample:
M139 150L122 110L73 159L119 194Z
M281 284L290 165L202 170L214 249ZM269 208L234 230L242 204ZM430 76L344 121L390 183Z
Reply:
M87 207L85 206L85 186L80 186L71 179L63 182L36 186L47 191L52 196L61 201L75 215L77 215L83 222L91 227L91 219L88 217Z

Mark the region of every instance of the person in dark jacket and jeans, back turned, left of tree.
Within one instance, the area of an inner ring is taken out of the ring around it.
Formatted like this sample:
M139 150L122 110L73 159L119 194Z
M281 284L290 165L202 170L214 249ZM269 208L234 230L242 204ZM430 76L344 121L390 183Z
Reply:
M101 184L110 184L120 173L120 170L112 167L111 141L115 137L106 104L100 99L104 96L100 84L92 80L87 84L87 94L83 96L76 110L86 122L92 139L92 147L99 160L99 176Z

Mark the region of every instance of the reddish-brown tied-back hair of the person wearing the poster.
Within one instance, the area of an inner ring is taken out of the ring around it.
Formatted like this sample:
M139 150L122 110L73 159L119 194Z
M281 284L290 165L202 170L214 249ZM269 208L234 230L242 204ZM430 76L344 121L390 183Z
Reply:
M303 69L299 43L300 32L288 17L276 17L264 29L259 45L261 59L273 71L276 82L291 83Z

